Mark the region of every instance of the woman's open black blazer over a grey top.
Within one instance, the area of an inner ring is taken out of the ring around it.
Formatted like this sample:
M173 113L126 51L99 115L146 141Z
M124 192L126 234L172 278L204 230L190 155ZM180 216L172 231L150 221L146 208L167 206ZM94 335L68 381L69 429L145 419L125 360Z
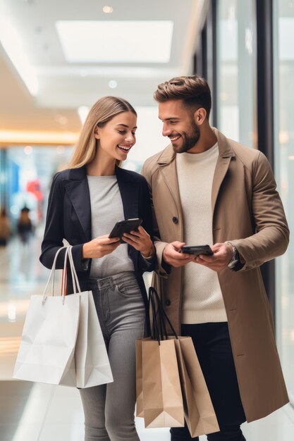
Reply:
M123 201L125 219L141 218L142 227L152 235L152 211L147 182L142 175L116 167L116 178ZM111 210L111 206L109 207ZM56 251L63 247L63 239L73 245L73 261L78 273L82 291L88 290L88 279L92 259L82 259L82 245L91 237L91 204L87 182L86 167L70 168L54 175L48 200L42 254L39 260L51 268ZM139 251L128 246L128 253L135 268L137 282L140 285L145 304L147 294L142 273L152 271L156 256L152 261L143 259ZM61 251L56 268L63 268L65 251ZM73 292L73 285L68 272L67 290Z

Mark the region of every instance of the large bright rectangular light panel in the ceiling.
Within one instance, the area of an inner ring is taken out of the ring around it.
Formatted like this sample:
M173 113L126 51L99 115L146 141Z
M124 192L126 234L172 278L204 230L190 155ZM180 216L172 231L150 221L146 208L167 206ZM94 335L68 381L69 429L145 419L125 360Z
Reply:
M56 22L69 63L169 63L170 20Z

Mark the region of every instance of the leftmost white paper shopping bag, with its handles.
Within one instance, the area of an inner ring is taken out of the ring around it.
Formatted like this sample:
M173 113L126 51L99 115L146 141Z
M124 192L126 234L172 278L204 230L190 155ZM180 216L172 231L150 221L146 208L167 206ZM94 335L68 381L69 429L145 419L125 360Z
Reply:
M56 259L43 296L33 295L25 317L13 378L59 385L75 382L74 352L78 335L80 296L54 297ZM66 266L67 252L65 256ZM47 287L52 280L52 296Z

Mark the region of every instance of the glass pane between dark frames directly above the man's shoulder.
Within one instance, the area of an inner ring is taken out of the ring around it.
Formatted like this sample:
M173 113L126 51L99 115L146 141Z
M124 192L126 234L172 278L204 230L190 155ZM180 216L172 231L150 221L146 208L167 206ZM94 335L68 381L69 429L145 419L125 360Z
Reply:
M254 3L220 0L216 6L217 125L249 147L255 147Z

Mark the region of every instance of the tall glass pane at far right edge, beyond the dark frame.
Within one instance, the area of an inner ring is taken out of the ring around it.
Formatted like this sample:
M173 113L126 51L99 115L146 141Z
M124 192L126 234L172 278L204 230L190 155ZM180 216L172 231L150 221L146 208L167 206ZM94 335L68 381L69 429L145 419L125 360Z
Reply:
M294 231L294 1L274 2L275 175ZM290 400L294 404L294 242L276 259L278 349Z

